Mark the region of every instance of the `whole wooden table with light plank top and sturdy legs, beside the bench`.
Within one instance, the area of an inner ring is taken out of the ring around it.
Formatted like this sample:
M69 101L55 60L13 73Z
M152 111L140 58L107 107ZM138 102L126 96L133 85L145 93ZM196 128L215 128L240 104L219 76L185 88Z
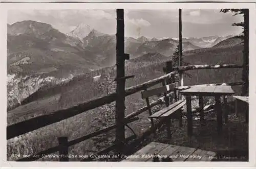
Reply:
M204 123L204 110L203 110L203 96L215 96L215 105L217 110L217 131L220 134L222 132L222 109L220 98L222 95L232 95L234 93L231 86L204 86L197 85L191 86L188 89L181 90L180 93L186 96L187 107L187 134L193 135L193 122L191 114L191 96L199 96L199 109L200 109L200 122ZM226 97L224 97L224 105L226 103ZM227 121L227 111L225 112L225 121Z

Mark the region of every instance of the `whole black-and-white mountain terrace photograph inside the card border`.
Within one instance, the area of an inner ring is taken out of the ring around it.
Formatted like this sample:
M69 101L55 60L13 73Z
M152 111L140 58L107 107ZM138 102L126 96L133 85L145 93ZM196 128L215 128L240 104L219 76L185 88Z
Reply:
M249 161L251 10L154 6L6 10L7 161Z

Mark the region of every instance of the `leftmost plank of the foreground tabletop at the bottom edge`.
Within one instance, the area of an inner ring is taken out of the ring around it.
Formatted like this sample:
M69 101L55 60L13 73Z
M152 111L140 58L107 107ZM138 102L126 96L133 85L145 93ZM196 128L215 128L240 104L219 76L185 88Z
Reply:
M160 143L159 142L151 142L133 154L133 155L138 155L140 158L127 158L122 161L145 161L146 159L144 160L143 158L141 158L141 155L148 154L148 152L150 152L151 150L156 149L158 144L160 144Z

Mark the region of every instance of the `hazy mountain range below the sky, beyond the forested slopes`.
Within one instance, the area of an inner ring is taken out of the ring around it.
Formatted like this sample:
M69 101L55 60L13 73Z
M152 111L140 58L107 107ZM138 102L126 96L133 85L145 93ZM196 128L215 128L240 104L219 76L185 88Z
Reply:
M10 100L16 98L20 102L45 83L52 83L49 77L59 79L55 83L61 83L70 77L111 66L116 62L116 36L99 32L84 23L68 34L47 23L33 20L8 24L7 27L7 72L12 77L8 82ZM237 44L236 38L225 42L230 37L183 38L183 50ZM178 44L175 38L125 37L125 53L129 53L131 59L141 57L133 62L146 59L157 61L158 57L161 60L172 56ZM31 77L38 82L36 85L25 83ZM14 86L20 83L27 85L23 96L17 96L20 94L16 92L22 92L20 88L26 87L20 86L13 91ZM30 89L31 85L33 90Z

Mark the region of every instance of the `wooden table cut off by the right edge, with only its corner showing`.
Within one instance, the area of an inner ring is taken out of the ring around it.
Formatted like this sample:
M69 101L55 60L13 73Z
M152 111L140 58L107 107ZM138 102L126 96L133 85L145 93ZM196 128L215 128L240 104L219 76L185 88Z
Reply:
M245 103L246 107L243 111L245 112L245 123L248 123L248 118L249 118L249 109L248 109L248 105L249 105L249 97L248 96L238 96L238 95L233 95L233 98L236 99L236 107L235 107L235 111L236 111L236 115L238 115L238 107L243 107L243 105L241 105L240 103Z

